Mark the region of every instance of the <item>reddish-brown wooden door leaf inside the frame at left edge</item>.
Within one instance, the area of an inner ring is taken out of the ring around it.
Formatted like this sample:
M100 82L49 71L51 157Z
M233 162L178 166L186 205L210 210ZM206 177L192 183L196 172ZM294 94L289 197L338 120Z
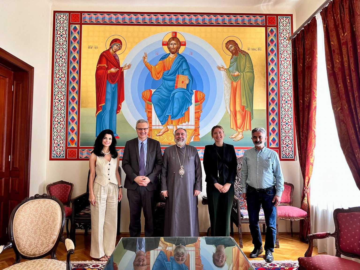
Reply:
M0 239L8 240L13 72L0 66Z

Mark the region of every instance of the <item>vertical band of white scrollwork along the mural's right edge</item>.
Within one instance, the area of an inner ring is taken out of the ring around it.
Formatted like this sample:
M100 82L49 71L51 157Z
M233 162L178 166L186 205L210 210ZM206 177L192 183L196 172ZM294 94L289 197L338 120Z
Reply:
M292 87L291 17L279 16L279 52L280 52L280 158L294 159L294 114Z

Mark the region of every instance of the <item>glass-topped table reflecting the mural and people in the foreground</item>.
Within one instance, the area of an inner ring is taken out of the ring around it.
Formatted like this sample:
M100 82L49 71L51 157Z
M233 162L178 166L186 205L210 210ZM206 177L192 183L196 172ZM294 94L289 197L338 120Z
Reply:
M231 237L123 237L104 270L254 270Z

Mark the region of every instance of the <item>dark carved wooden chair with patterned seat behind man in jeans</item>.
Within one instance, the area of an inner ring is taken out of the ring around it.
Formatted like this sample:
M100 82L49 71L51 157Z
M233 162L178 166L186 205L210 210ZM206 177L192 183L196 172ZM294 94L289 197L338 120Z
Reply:
M235 177L234 187L235 187L235 194L234 194L234 202L233 206L231 207L231 214L230 214L230 231L231 235L234 234L233 231L233 223L238 227L239 231L239 247L243 247L243 236L242 236L242 228L241 224L247 223L249 224L249 215L247 211L246 200L242 196L242 189L240 186L240 179L241 179L241 166L243 164L243 157L239 157L237 159L238 167L237 167L237 174ZM266 233L265 229L265 216L264 210L260 209L259 213L259 224L262 224L262 234ZM275 247L279 248L279 232L278 232L278 219L276 219L276 239L275 239Z

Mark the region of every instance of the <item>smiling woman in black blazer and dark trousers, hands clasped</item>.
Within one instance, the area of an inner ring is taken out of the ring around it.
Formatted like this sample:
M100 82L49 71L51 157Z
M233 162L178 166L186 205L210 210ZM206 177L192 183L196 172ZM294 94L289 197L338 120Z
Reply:
M215 140L204 149L206 195L210 215L211 236L230 236L230 212L234 199L237 161L234 146L224 143L224 129L214 126Z

